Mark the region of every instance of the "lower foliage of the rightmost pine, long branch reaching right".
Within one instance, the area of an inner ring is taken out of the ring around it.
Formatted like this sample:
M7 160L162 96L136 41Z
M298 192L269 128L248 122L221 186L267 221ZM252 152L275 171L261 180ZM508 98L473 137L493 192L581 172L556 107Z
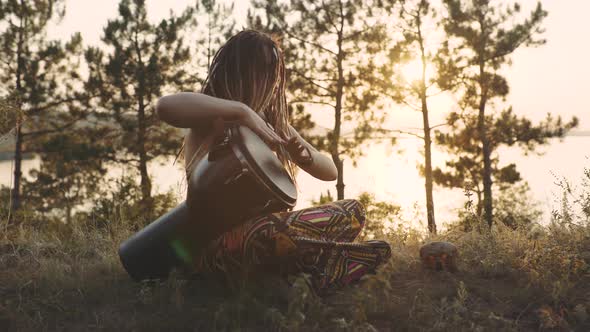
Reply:
M469 112L451 112L447 121L447 131L437 131L435 140L452 158L445 162L444 168L433 171L436 183L449 188L469 188L477 197L477 211L483 206L483 151L478 138L477 115ZM500 166L500 147L518 146L525 154L535 153L537 148L550 143L552 138L563 138L575 126L576 118L563 123L561 117L550 114L537 125L524 117L514 114L508 108L497 115L486 116L492 166L493 183L499 190L506 190L522 180L515 164Z

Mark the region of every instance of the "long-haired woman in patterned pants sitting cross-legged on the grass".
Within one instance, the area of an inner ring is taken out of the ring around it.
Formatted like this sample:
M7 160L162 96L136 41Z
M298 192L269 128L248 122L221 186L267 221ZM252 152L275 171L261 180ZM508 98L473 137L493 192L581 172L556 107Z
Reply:
M332 159L289 125L283 61L273 38L241 31L215 54L201 93L158 100L161 120L190 128L183 144L187 178L225 123L237 122L272 147L293 178L299 167L320 180L336 179ZM262 215L212 239L195 268L230 279L252 270L304 272L311 276L313 289L323 294L374 273L390 257L386 242L352 243L364 223L363 206L351 199Z

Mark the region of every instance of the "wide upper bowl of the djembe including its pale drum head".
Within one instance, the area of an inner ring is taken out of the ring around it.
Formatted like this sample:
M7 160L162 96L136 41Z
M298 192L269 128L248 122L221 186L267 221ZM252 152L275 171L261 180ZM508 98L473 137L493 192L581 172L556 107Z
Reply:
M243 126L228 128L188 179L186 202L206 238L296 201L293 180L274 152Z

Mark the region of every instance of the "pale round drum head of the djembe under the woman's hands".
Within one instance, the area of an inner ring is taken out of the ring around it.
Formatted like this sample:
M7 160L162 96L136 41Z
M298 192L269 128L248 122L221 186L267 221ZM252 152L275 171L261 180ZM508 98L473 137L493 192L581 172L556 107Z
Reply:
M237 136L235 142L253 171L283 201L295 205L297 189L275 153L248 127L236 126L233 134Z

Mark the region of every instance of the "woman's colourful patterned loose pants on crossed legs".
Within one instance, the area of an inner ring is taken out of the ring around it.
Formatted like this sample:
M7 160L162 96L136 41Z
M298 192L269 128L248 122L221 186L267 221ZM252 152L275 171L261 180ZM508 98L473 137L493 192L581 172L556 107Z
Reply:
M242 278L251 273L311 276L318 294L353 284L391 256L384 241L353 243L365 209L353 199L262 215L212 241L197 273Z

